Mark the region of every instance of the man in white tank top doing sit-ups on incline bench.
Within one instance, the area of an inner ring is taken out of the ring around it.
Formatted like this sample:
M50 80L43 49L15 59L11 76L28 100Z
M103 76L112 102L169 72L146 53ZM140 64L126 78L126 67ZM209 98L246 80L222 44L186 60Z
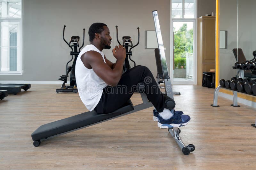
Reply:
M88 110L101 114L111 113L131 98L139 82L144 82L145 93L157 110L154 116L158 120L158 127L172 128L188 124L188 115L165 108L164 95L147 67L136 66L122 74L126 55L122 45L112 50L116 63L106 58L102 50L111 48L112 39L106 24L92 24L89 38L90 45L83 48L76 60L77 89Z

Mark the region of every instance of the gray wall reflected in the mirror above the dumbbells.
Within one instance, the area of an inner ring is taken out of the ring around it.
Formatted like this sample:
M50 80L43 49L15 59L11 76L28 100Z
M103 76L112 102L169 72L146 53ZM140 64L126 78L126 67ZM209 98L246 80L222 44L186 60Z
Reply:
M253 58L256 48L254 0L239 0L238 8L238 48L242 48L247 60ZM220 49L220 79L230 80L237 70L232 66L236 62L233 48L237 48L237 1L220 1L220 30L228 31L228 48Z

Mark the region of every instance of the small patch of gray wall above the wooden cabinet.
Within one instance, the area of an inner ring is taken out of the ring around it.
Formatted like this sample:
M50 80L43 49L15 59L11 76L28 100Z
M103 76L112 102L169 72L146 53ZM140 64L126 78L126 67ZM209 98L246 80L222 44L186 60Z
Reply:
M216 0L197 0L197 17L216 14Z

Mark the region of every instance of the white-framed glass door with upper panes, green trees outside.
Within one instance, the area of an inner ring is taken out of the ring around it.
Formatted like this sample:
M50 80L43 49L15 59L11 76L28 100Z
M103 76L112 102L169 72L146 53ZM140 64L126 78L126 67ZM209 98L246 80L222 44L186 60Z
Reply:
M171 75L173 84L195 84L196 0L172 0Z

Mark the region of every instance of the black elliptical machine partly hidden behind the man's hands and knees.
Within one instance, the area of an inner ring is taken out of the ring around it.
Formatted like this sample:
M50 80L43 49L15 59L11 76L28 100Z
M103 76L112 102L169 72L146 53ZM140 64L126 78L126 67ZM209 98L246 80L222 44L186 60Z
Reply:
M129 70L131 68L130 64L129 64L129 60L128 60L128 55L129 55L129 59L134 63L134 67L136 66L136 63L135 61L133 61L131 59L131 55L132 55L132 48L136 47L139 45L139 42L140 42L140 28L138 27L138 42L135 46L132 45L132 38L130 36L124 36L122 39L123 39L123 46L125 47L125 50L126 50L126 57L125 57L125 60L124 60L124 67L123 67L123 73L125 73L127 70ZM118 30L117 30L117 25L116 25L116 39L117 39L117 42L118 44L122 45L119 40L118 40ZM131 44L131 45L130 45ZM129 47L130 50L129 50Z

